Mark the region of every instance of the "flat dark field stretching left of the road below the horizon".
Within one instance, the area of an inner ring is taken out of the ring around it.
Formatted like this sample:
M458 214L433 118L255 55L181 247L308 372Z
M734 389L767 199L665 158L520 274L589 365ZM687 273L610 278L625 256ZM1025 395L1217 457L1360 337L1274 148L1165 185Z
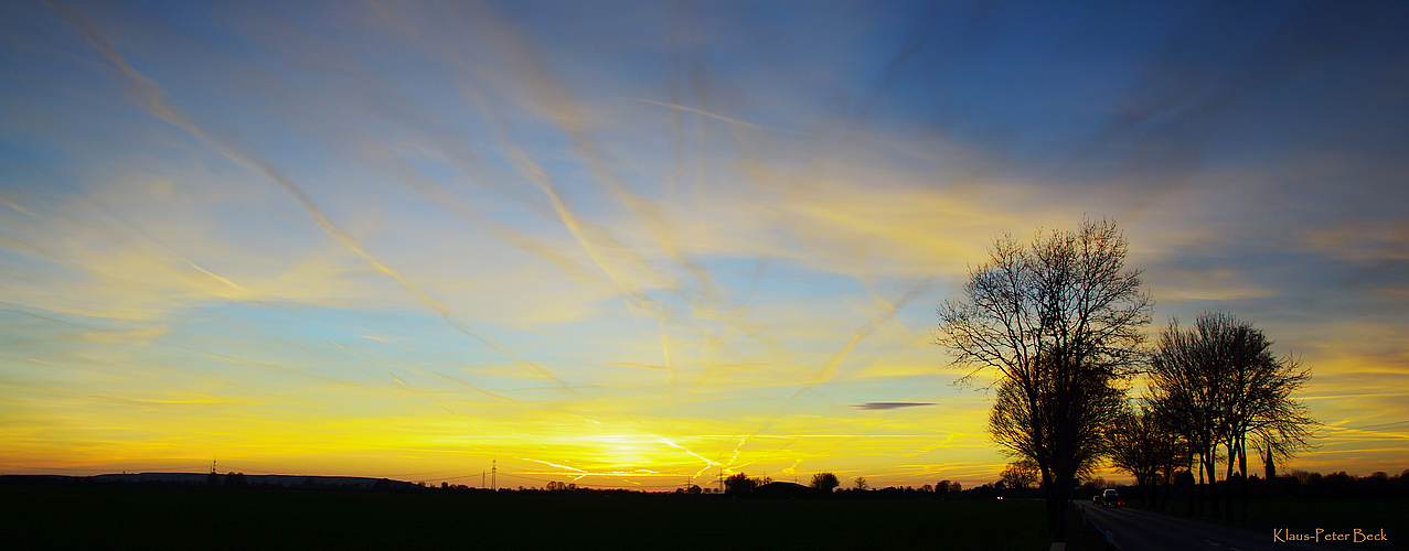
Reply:
M1043 503L0 485L6 548L1045 550Z

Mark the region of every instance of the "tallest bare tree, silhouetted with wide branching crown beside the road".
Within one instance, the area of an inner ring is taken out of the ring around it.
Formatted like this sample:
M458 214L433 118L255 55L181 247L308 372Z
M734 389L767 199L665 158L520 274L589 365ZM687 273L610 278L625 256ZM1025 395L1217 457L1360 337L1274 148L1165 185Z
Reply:
M1005 236L971 270L964 295L940 306L934 342L972 375L996 371L993 439L1037 462L1047 523L1057 541L1075 477L1103 454L1103 429L1119 410L1116 384L1138 364L1151 298L1126 270L1127 242L1115 223ZM1113 399L1115 398L1115 399Z

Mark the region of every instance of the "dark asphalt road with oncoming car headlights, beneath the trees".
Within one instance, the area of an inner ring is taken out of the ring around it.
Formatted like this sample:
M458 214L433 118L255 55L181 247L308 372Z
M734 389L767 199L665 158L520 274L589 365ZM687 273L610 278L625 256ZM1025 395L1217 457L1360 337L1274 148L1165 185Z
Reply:
M1102 509L1089 502L1078 502L1076 506L1098 529L1110 531L1115 536L1116 547L1122 551L1324 551L1336 547L1351 547L1350 541L1327 545L1324 534L1322 543L1275 541L1271 530L1240 529L1140 509Z

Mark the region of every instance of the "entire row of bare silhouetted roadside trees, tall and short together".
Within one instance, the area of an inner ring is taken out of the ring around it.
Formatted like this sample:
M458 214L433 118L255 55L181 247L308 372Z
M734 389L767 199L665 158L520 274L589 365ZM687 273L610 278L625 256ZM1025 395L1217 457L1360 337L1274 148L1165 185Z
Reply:
M1107 460L1141 485L1193 464L1212 482L1220 460L1224 478L1236 467L1246 479L1250 448L1289 457L1315 426L1291 398L1309 370L1272 356L1272 342L1250 323L1220 312L1191 329L1171 320L1147 347L1154 301L1141 271L1126 268L1127 252L1106 221L1030 243L1005 236L971 270L962 297L938 309L936 343L969 368L961 382L993 375L983 385L996 391L989 434L1019 460L1005 485L1040 481L1057 541L1075 481ZM1131 405L1127 387L1140 375L1150 392Z

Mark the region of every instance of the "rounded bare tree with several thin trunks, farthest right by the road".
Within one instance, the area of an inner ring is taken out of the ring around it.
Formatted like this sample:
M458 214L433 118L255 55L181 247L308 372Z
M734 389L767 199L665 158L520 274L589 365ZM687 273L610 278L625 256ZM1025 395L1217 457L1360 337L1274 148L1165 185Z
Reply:
M1299 361L1278 358L1272 342L1251 323L1223 312L1200 315L1191 330L1178 320L1160 336L1150 361L1154 403L1177 419L1191 453L1199 458L1199 478L1208 475L1213 514L1219 507L1217 462L1227 461L1224 479L1241 478L1243 520L1247 520L1247 446L1291 457L1309 446L1317 423L1291 398L1310 380ZM1223 450L1219 450L1222 446ZM1203 513L1200 484L1199 513ZM1231 486L1224 489L1226 516L1233 517Z

